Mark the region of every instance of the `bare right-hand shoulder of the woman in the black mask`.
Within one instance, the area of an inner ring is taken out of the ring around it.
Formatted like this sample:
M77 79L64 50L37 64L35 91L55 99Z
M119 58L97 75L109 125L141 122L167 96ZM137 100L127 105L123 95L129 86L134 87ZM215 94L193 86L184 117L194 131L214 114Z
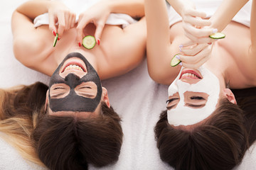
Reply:
M97 60L102 79L109 79L137 67L146 55L146 24L133 23L122 29L105 26L100 40L102 59Z

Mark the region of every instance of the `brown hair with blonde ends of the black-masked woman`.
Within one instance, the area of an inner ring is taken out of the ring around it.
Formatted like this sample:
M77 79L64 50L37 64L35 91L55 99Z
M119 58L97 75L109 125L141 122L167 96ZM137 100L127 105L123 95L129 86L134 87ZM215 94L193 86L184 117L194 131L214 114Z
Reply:
M47 89L38 82L1 90L0 127L5 128L1 131L15 137L12 144L21 154L37 164L39 157L49 169L87 169L87 164L116 162L123 134L113 108L101 103L102 114L97 118L50 116L44 110Z

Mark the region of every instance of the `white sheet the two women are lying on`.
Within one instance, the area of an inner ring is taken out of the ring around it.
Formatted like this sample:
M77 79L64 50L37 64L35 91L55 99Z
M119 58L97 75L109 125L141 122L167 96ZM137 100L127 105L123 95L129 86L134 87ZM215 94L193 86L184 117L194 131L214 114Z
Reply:
M15 59L12 51L11 13L24 1L0 2L0 88L35 81L48 84L48 77L24 67ZM171 169L159 158L153 131L159 113L165 108L167 86L150 79L145 61L132 72L103 81L102 84L108 89L113 108L122 117L124 132L119 161L102 169ZM256 151L251 149L237 170L255 167ZM0 169L39 170L41 167L26 162L13 147L0 139Z

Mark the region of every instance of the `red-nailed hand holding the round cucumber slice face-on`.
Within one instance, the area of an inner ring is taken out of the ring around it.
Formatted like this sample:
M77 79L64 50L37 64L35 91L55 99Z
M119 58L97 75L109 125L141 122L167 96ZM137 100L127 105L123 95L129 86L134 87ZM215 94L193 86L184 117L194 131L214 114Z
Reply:
M78 20L78 42L82 42L83 38L83 29L87 26L88 23L94 23L96 26L95 30L95 39L97 40L97 44L100 45L100 38L102 35L102 30L105 26L108 16L110 16L110 8L105 1L101 1L100 3L95 4L94 6L87 9L83 13L80 13Z

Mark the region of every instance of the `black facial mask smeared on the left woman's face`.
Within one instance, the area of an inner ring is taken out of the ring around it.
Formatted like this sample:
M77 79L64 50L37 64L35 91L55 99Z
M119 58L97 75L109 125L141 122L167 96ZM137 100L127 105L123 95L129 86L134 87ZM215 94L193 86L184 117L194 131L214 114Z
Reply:
M85 62L85 66L87 67L87 74L81 79L80 77L72 73L68 74L68 76L66 76L65 79L63 79L63 77L60 77L59 75L60 68L63 66L64 62L71 57L78 57L83 62ZM75 87L87 81L93 81L97 85L97 95L95 96L95 98L85 98L75 93ZM70 86L70 93L68 94L68 96L65 96L64 98L50 98L49 93L50 109L53 112L93 112L100 103L100 99L102 96L102 85L100 83L100 77L98 76L97 72L92 67L92 65L85 59L85 57L78 52L70 53L65 57L63 62L60 63L58 68L53 73L52 77L50 77L49 92L50 87L53 86L53 84L67 84L68 86Z

